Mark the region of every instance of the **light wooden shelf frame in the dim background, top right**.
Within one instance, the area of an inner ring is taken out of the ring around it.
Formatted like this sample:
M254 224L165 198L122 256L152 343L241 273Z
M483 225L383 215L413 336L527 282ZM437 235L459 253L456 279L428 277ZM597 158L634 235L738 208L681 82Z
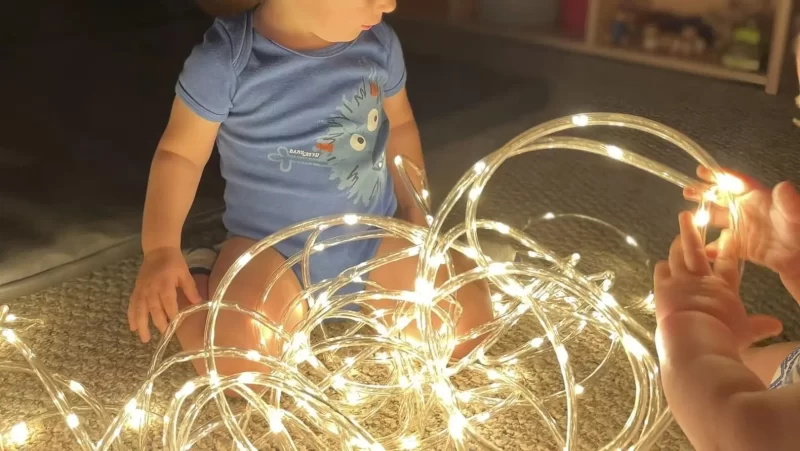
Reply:
M765 72L745 72L733 70L719 63L717 57L691 58L652 53L638 48L612 46L603 41L603 31L617 7L617 0L590 0L585 38L573 38L553 30L527 30L507 26L492 26L475 19L474 6L468 7L469 0L451 0L451 8L460 3L458 14L451 14L452 26L466 29L486 36L498 36L517 41L544 45L565 51L610 58L629 63L642 64L661 69L677 70L695 75L731 80L764 86L767 93L776 94L780 83L781 69L788 48L789 24L791 22L792 0L777 0L773 24L772 46L768 68ZM451 11L453 11L451 9Z

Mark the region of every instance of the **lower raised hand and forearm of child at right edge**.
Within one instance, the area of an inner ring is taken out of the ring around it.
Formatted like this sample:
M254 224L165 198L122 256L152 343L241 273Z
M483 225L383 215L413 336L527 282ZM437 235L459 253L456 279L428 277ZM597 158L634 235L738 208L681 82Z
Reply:
M792 412L800 419L791 407L800 392L794 389L794 404L777 398L740 355L754 341L780 333L780 322L747 316L729 231L712 267L690 213L680 216L680 229L669 261L655 270L661 378L675 419L701 451L793 449L798 428L783 416Z

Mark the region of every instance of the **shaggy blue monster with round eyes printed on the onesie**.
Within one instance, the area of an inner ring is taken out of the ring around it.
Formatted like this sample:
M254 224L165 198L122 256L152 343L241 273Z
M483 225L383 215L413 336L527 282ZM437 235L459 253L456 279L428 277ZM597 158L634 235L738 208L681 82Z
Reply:
M386 189L386 143L389 122L383 112L383 91L374 79L362 79L352 98L343 98L328 118L328 132L316 149L328 152L331 180L347 190L354 203L369 206Z

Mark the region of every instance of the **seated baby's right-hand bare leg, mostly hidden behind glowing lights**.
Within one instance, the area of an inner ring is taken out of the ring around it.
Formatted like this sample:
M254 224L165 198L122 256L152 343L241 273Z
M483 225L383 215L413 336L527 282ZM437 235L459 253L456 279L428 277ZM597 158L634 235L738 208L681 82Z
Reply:
M410 246L405 240L399 238L385 238L378 248L376 257L399 252ZM456 274L469 271L475 265L464 255L452 252L453 264ZM370 273L370 280L389 290L409 290L415 288L417 271L417 258L406 258L390 265L382 266ZM441 268L437 275L437 286L447 280L447 269ZM456 300L463 307L461 318L456 325L457 336L464 336L477 326L483 325L493 318L492 302L489 293L489 286L485 281L473 282L463 286L456 293ZM394 301L375 301L373 307L376 309L392 310L396 303ZM433 326L439 327L441 321L433 319ZM409 326L406 333L412 338L419 338L419 331L416 327ZM460 358L468 354L472 349L480 344L480 338L470 340L458 345L453 353L454 358Z

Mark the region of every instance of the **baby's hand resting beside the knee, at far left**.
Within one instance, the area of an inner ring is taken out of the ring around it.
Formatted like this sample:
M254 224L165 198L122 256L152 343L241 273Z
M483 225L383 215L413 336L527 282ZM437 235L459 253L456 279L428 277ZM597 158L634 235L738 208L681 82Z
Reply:
M128 324L142 342L150 341L149 317L163 334L178 314L178 288L189 302L201 301L181 250L161 248L146 254L128 305Z

